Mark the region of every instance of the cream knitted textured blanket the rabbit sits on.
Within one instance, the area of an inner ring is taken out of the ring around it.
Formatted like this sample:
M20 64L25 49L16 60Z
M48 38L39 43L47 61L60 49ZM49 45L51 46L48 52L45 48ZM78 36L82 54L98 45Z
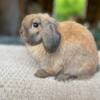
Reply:
M38 67L21 45L0 45L0 100L100 100L100 72L91 79L37 78Z

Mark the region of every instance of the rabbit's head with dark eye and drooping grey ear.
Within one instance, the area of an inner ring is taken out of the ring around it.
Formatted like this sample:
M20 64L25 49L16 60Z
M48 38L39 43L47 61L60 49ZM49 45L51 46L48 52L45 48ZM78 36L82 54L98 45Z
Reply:
M30 45L43 43L49 53L55 52L60 42L57 23L48 14L27 15L22 21L20 34Z

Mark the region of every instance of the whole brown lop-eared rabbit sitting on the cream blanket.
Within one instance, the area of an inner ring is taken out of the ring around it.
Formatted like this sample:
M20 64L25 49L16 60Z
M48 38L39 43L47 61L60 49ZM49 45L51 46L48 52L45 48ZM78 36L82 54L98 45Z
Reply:
M57 23L48 14L31 14L23 19L20 33L41 65L36 76L67 80L96 72L96 44L84 26L73 21Z

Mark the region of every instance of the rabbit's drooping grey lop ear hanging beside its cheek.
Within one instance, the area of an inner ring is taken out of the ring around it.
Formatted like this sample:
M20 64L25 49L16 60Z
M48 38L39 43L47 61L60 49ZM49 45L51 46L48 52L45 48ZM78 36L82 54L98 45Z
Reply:
M60 43L60 34L57 31L57 23L53 18L49 18L42 22L43 26L43 45L47 52L53 53L56 51Z

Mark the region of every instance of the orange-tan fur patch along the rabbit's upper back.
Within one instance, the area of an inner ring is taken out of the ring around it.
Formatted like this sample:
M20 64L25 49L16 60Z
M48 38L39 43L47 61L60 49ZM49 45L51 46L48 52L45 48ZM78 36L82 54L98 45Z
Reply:
M94 38L86 27L76 22L68 21L59 23L58 30L66 44L79 44L89 52L97 53Z

